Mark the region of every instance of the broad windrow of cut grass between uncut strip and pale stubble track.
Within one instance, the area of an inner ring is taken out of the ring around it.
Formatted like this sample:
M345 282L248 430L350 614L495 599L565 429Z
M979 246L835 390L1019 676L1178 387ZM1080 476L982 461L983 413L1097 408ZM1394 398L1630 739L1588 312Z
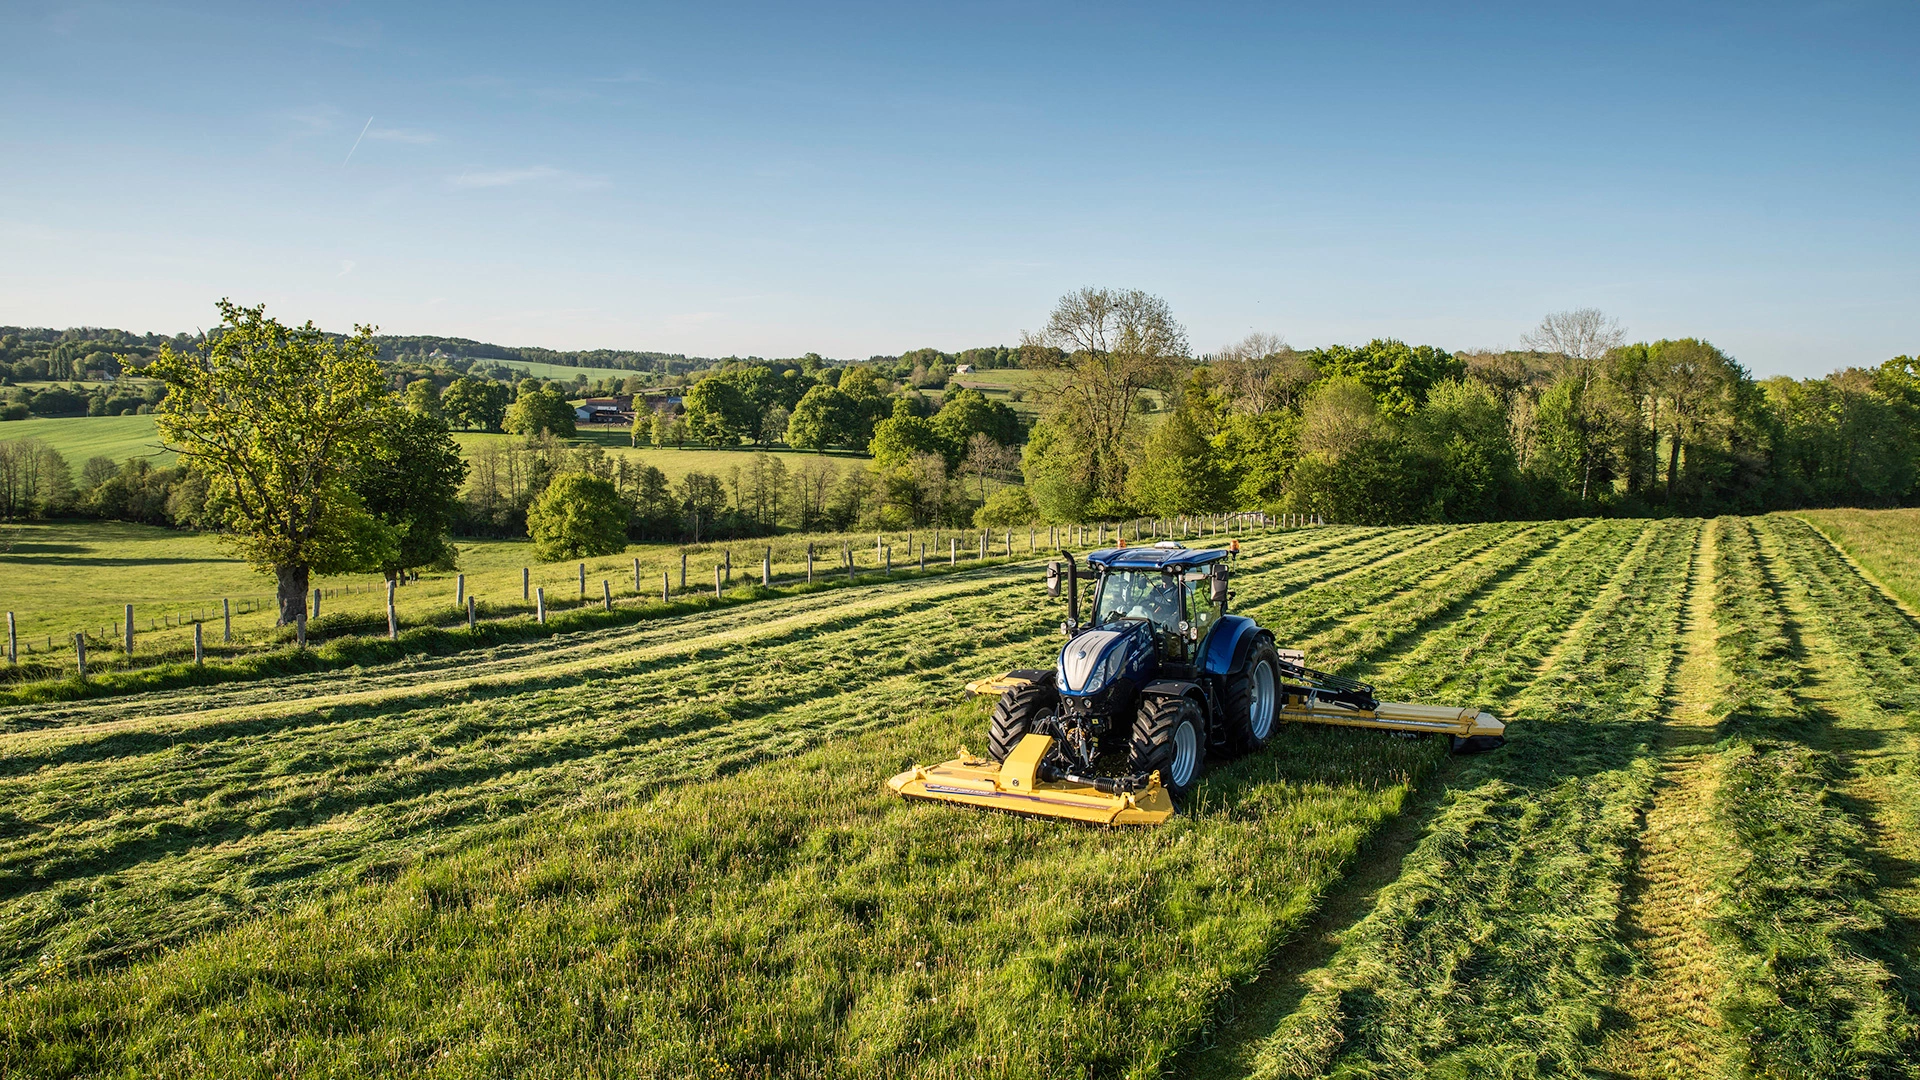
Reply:
M1252 1055L1260 1076L1563 1074L1628 970L1620 894L1697 525L1647 525L1375 909ZM1540 609L1580 609L1528 590Z

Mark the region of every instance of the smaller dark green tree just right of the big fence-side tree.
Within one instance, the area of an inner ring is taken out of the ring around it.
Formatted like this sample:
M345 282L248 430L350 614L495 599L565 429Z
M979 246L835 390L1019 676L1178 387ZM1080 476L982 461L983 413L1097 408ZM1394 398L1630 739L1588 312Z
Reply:
M394 530L380 573L392 580L422 567L453 567L447 528L465 479L467 461L440 417L407 409L380 430L357 484L367 509Z

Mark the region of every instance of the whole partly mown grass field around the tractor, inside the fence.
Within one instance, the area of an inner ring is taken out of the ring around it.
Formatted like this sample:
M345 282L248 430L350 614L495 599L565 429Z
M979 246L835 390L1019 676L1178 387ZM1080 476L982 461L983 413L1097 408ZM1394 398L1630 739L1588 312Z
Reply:
M1021 559L0 707L0 1072L1910 1074L1920 626L1822 532L1315 528L1236 594L1511 744L1292 728L1158 830L891 798L1056 648Z

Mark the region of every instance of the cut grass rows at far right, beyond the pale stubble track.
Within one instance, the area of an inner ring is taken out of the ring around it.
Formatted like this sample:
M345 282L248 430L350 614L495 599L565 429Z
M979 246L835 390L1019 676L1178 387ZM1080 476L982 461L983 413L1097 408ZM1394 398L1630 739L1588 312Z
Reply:
M1730 978L1716 1007L1740 1036L1743 1074L1908 1076L1920 1022L1914 988L1895 972L1912 969L1912 932L1889 926L1864 807L1845 796L1857 767L1849 744L1887 728L1884 715L1862 713L1910 715L1914 705L1910 634L1876 632L1907 617L1803 525L1776 525L1741 521L1722 532L1736 584L1716 607L1718 646L1734 680L1722 701L1716 811L1736 857L1718 882L1715 936ZM1818 625L1801 626L1791 607ZM1807 634L1818 638L1812 648ZM1841 715L1818 703L1814 651L1870 676L1855 684L1868 694L1849 696ZM1912 774L1912 740L1859 749L1891 749L1876 757L1895 773L1884 792L1899 822L1912 813L1912 786L1897 776Z

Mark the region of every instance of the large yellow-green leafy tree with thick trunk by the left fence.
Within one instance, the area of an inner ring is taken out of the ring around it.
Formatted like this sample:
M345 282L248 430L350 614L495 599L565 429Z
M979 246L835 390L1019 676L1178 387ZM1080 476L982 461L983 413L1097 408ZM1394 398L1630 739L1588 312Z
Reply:
M313 573L382 563L394 530L353 480L397 407L372 327L334 338L284 327L265 306L219 302L221 327L198 346L163 344L146 369L167 384L161 438L207 479L223 540L275 577L280 623L305 613Z

